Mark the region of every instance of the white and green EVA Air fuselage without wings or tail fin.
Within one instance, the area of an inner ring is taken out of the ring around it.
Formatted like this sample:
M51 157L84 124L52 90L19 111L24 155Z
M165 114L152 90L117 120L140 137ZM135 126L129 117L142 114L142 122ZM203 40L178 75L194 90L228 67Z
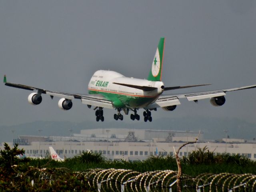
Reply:
M156 90L144 91L137 88L113 84L130 84L136 86L155 87ZM128 78L114 71L96 71L88 84L90 94L102 94L112 100L117 107L121 107L120 101L127 108L143 108L154 102L162 94L164 86L160 81L148 81L144 79ZM117 101L119 100L119 102ZM122 108L123 108L122 107Z

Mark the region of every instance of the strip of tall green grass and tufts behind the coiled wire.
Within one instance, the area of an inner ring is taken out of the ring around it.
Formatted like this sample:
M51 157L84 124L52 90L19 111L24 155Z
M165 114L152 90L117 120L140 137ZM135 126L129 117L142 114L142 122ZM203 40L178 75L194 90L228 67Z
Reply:
M138 172L147 172L154 170L177 170L177 164L174 156L150 156L144 161L110 161L104 156L93 152L82 152L74 158L67 158L64 162L57 162L47 156L43 159L29 159L28 164L38 168L68 168L71 171L84 171L92 168L115 168L130 169ZM201 173L234 173L256 174L256 162L236 154L213 155L208 148L198 148L188 157L181 158L182 171L190 176L197 176Z

